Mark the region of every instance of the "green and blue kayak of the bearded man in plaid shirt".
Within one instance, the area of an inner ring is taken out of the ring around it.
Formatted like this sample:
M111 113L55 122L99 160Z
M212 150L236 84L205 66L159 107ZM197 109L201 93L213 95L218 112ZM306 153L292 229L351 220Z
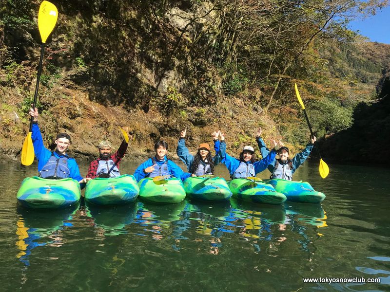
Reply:
M117 178L96 178L88 181L85 188L85 201L97 205L120 205L134 202L139 187L134 176L129 174Z

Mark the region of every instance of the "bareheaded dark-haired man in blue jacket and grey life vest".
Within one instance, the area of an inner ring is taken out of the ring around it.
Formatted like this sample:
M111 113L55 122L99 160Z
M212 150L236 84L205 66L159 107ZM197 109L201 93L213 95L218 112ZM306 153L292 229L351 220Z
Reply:
M134 177L137 182L143 178L154 178L156 176L171 176L181 180L190 177L191 174L183 172L172 160L166 156L168 153L168 143L165 141L158 141L155 144L156 155L149 158L143 164L139 165L134 172Z

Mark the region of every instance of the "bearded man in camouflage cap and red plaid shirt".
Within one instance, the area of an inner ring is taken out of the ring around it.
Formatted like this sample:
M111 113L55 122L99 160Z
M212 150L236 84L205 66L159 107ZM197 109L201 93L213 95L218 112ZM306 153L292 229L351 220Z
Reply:
M129 139L132 136L129 135ZM87 178L115 178L120 176L119 162L125 155L129 144L123 139L117 152L112 154L112 145L109 141L101 141L98 145L99 158L89 164Z

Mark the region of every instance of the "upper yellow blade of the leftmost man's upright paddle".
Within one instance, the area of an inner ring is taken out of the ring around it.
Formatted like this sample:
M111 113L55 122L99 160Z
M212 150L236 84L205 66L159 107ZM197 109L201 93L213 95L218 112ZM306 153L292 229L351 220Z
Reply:
M39 6L38 29L42 43L46 42L57 23L57 7L49 1L43 1Z

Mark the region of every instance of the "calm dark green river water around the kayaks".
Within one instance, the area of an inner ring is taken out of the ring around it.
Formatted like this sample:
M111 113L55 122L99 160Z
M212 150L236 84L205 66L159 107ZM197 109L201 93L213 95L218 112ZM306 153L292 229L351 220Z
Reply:
M294 179L326 194L318 205L137 201L42 212L16 200L37 165L0 164L0 290L390 291L390 170L330 165L323 180L317 168L306 162ZM216 173L229 177L223 165ZM303 280L320 277L366 283Z

